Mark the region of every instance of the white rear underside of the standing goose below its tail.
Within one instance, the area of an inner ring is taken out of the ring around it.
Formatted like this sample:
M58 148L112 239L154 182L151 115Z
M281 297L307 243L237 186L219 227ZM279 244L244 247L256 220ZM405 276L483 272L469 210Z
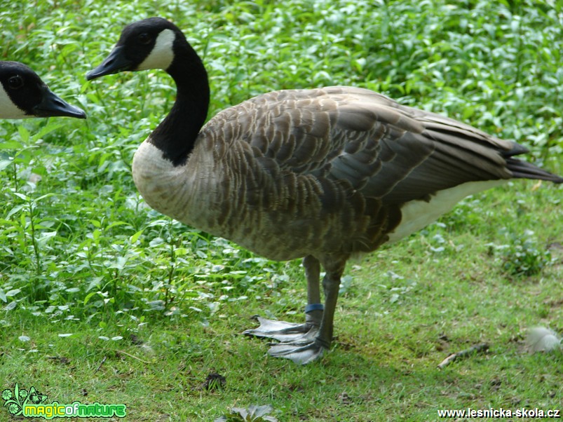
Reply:
M486 180L484 182L469 182L459 184L453 188L438 191L430 202L424 200L412 200L401 208L402 219L397 228L389 233L389 243L396 242L409 234L419 231L431 222L445 214L466 196L480 191L486 191L494 186L500 186L508 182L506 179Z

